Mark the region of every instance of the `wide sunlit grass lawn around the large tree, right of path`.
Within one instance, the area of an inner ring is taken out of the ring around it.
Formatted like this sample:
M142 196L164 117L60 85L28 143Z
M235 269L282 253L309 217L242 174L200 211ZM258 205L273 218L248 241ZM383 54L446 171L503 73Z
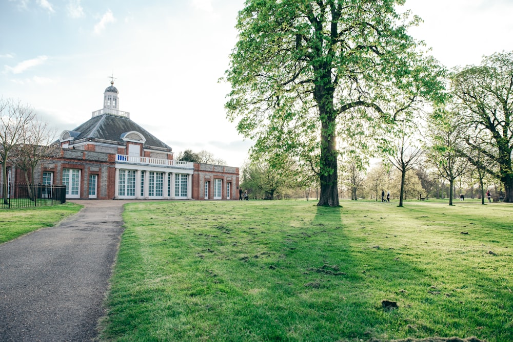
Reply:
M513 341L513 206L316 203L127 204L101 338Z

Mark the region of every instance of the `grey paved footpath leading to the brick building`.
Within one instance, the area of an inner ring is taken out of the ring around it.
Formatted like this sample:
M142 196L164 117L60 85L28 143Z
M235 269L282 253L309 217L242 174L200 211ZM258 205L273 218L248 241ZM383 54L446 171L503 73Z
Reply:
M85 207L56 227L0 244L0 341L96 337L127 201L72 202Z

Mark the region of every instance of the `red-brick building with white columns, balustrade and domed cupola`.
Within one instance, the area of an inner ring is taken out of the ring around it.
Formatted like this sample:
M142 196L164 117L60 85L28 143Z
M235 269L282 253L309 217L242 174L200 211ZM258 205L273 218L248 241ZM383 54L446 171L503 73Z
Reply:
M238 167L175 160L171 147L119 110L118 95L112 81L103 109L61 133L60 154L40 162L34 183L65 184L70 199L238 199ZM25 183L15 168L8 177Z

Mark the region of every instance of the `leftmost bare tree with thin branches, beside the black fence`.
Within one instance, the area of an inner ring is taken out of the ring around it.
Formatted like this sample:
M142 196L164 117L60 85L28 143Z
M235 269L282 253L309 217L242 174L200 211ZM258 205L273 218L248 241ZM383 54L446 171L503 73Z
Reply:
M4 203L7 204L7 162L14 148L22 141L27 126L35 117L35 111L11 99L0 99L0 162L4 184Z

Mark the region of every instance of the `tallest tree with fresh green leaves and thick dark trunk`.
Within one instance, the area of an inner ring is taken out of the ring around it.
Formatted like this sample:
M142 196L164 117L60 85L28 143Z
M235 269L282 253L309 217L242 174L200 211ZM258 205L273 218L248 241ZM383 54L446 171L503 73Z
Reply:
M247 0L239 12L228 118L256 140L254 155L320 155L318 205L339 205L338 138L362 134L368 122L386 129L441 87L435 61L407 34L420 19L396 11L403 4Z

